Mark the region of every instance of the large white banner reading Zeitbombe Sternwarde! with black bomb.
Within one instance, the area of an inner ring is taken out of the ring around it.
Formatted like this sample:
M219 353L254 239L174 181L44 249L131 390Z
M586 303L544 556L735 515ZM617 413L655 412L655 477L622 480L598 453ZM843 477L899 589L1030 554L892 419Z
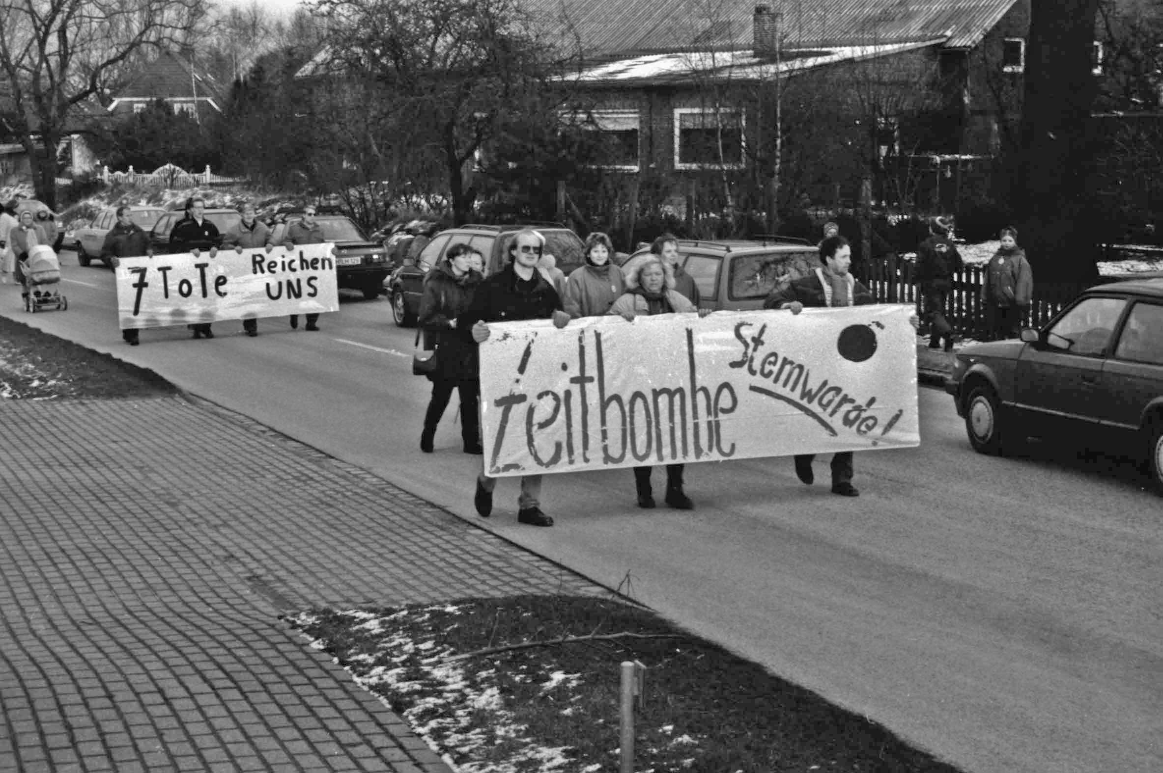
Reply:
M486 472L919 445L914 312L491 323L480 345Z

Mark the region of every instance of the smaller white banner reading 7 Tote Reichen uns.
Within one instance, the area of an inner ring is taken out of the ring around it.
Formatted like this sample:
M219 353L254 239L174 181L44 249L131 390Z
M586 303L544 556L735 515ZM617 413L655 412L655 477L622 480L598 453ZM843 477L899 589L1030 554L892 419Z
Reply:
M333 245L190 252L121 258L116 269L121 328L336 312Z

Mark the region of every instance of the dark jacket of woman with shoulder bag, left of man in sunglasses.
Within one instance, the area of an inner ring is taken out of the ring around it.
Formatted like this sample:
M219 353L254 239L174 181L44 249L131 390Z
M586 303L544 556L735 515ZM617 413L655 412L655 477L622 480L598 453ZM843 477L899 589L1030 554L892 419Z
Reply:
M461 279L452 274L448 262L428 272L420 299L420 329L427 348L436 349L436 372L431 378L451 381L475 381L480 378L477 342L472 327L450 328L449 322L464 314L484 278L470 270Z

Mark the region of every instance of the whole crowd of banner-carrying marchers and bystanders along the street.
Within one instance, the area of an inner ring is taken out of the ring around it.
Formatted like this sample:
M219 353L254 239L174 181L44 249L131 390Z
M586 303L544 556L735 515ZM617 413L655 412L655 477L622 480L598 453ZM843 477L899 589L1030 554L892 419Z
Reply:
M38 221L37 216L28 210L21 212L17 217L16 205L17 202L9 202L0 214L0 248L2 248L0 256L3 257L0 260L0 269L5 278L12 274L17 284L23 285L21 265L27 259L29 250L37 244L51 244L56 234L48 231L43 223L45 219ZM197 259L204 250L213 258L219 249L233 248L238 253L244 250L264 250L269 253L276 246L269 227L256 217L254 205L247 203L241 207L241 221L226 234L217 231L214 223L204 216L204 210L202 199L194 196L186 201L185 217L174 226L171 235L173 251L190 253ZM152 258L150 237L131 221L128 208L121 207L116 214L117 222L105 239L101 257L110 259L114 266L127 259L133 262ZM952 327L946 318L944 309L948 294L952 289L954 274L962 267L961 256L949 231L947 221L934 219L930 224L930 236L918 251L916 264L918 282L923 295L925 321L930 330L929 345L932 348L943 345L946 350L952 345ZM1030 302L1032 274L1029 264L1016 244L1016 231L1012 228L1001 231L1001 246L990 260L983 293L991 329L999 338L1016 337L1023 310ZM323 232L315 221L313 206L305 208L302 220L293 223L280 242L287 250L298 245L323 243ZM569 277L547 265L545 258L549 256L544 253L544 238L536 230L518 231L509 242L507 265L486 277L484 257L469 244L455 244L445 250L440 265L434 266L426 277L419 327L424 334L426 348L434 350L435 356L426 358L427 365L422 368L423 374L431 381L431 396L420 436L420 448L423 452L434 451L437 424L445 413L452 393L457 392L461 401L464 452L484 453L480 418L480 348L490 339L491 325L494 323L549 320L552 327L561 329L571 320L586 317L615 316L634 321L640 316L664 314L695 313L699 317L711 314L709 309L699 308L698 287L692 277L679 265L679 245L675 236L669 234L659 236L652 243L645 259L628 263L623 271L613 262L614 248L609 237L601 232L590 234L584 246L585 265L575 270ZM839 228L834 223L825 227L823 239L819 243L818 250L820 266L804 277L777 286L764 301L765 309L784 309L792 315L799 315L805 307L836 308L876 302L869 289L851 274L851 246L839 235ZM144 285L144 280L141 280L135 286ZM26 285L23 293L27 294L29 289ZM211 299L212 302L213 300ZM119 303L122 303L120 298ZM290 317L292 328L297 328L298 322L298 315ZM913 314L909 323L918 329L920 318ZM188 327L193 330L194 338L214 337L208 322L195 322ZM243 318L243 327L248 336L257 335L257 318L254 315ZM305 327L307 330L319 330L319 314L307 314ZM124 317L122 335L130 345L138 344L137 327L126 327ZM739 335L737 329L736 335ZM528 352L525 359L528 359ZM739 365L732 364L732 367ZM564 368L563 364L562 370ZM844 400L856 402L847 395ZM868 400L869 407L872 402L872 399ZM864 407L861 407L861 410L863 411ZM835 414L836 410L832 410L832 415ZM816 421L820 418L816 417ZM533 423L531 414L529 423ZM659 445L661 443L659 441ZM814 481L813 458L814 455L811 453L794 455L795 473L799 480L807 485ZM842 496L859 494L851 482L852 459L852 451L834 453L830 465L834 494ZM665 468L663 501L676 509L693 508L691 498L684 491L684 464L666 464ZM484 517L492 514L493 492L498 481L498 478L487 474L488 472L490 466L486 461L477 477L473 498L477 513ZM651 466L634 466L633 472L638 507L656 507L651 487ZM541 509L541 487L542 474L522 472L518 499L520 523L552 525L554 520Z

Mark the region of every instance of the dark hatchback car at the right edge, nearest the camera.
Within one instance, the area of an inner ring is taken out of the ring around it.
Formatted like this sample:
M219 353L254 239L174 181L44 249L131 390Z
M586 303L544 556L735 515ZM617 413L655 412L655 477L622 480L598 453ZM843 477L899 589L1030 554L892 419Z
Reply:
M1142 461L1163 492L1163 279L1091 287L1040 331L965 346L946 392L982 453L1053 438Z

